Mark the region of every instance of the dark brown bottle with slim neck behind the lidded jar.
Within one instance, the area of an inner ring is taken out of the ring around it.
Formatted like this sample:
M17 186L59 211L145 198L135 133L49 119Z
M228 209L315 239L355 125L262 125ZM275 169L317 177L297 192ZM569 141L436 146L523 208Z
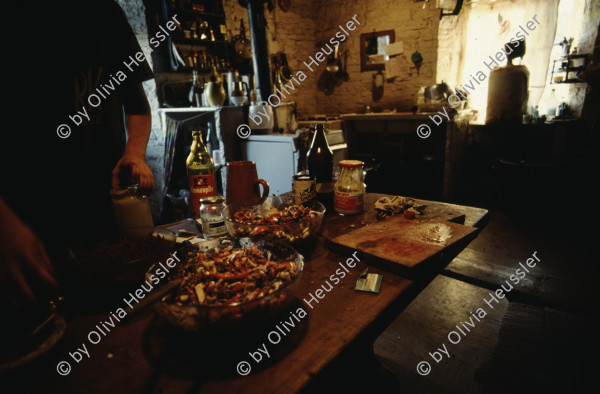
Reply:
M333 208L333 152L327 143L322 124L315 127L315 135L306 155L308 173L317 181L317 201L325 208Z

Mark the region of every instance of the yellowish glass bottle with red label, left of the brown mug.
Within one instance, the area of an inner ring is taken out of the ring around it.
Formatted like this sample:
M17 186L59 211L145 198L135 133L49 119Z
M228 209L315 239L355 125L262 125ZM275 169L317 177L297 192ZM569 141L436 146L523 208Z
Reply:
M200 199L217 194L215 165L202 141L202 131L193 131L192 149L185 165L191 193L191 210L194 218L200 214Z

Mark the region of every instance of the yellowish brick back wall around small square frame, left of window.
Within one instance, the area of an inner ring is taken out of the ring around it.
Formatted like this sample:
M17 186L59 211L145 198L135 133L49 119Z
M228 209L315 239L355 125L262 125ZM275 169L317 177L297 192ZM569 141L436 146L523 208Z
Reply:
M316 93L320 113L357 112L362 111L365 105L409 110L415 104L419 87L435 82L440 11L433 7L434 2L429 2L425 9L423 3L413 0L329 0L317 3L317 41L329 40L338 31L338 25L344 25L354 15L360 22L358 29L349 32L350 36L344 42L348 50L350 78L336 87L330 96L321 91ZM410 57L417 49L424 60L418 75L416 69L411 68L407 75L393 81L386 80L383 97L374 102L371 86L375 72L360 71L360 35L380 30L394 30L395 41L402 41L404 56L411 66ZM322 66L321 69L324 68Z

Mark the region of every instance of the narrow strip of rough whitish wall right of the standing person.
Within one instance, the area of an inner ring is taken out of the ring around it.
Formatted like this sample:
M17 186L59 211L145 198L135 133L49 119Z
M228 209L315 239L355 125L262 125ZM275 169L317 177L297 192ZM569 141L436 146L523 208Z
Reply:
M148 43L148 28L146 24L145 7L142 0L117 0L117 3L121 6L129 24L133 28L140 47L146 55L146 60L150 67L152 67L152 57L150 56L151 50ZM163 173L164 173L164 150L165 150L165 135L160 124L160 118L158 116L158 97L156 95L156 82L154 79L144 82L144 90L150 103L150 109L152 111L152 132L150 134L150 140L148 141L148 147L146 149L146 161L154 174L154 194L150 197L150 207L155 217L155 222L160 212L160 199L162 197L162 184Z

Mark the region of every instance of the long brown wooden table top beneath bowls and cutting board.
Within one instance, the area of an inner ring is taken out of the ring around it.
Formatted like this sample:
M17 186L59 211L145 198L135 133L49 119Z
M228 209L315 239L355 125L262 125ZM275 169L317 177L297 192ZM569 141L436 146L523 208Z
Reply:
M380 195L370 194L367 206L372 207L378 197ZM471 226L482 226L487 217L487 211L483 209L430 201L425 204L428 206L426 215L458 210L464 214L465 224ZM107 316L78 316L69 322L61 344L16 378L24 392L71 393L83 389L88 393L297 392L359 334L377 324L379 317L390 311L397 315L394 306L403 297L414 297L418 293L409 290L421 289L431 279L408 280L371 267L369 272L383 274L380 293L355 292L356 279L365 268L364 262L359 262L318 304L313 302L313 309L302 301L339 268L340 261L350 257L327 251L324 238L374 220L373 212L354 217L326 217L317 246L305 255L299 299L292 309L302 307L308 316L290 330L281 343L273 344L268 340L269 333L280 324L277 321L244 330L229 343L223 343L222 338L214 336L190 338L177 334L147 308L118 323L98 344L91 345L88 333L96 330L95 326ZM440 267L452 257L439 256ZM115 305L114 309L120 306ZM286 311L282 320L289 316ZM383 328L385 326L380 331ZM69 352L84 342L90 357L84 355L77 364ZM255 353L259 347L270 353L269 360L264 356L260 362L251 358L249 352ZM56 366L60 361L71 364L68 376L57 374ZM248 376L236 372L236 366L242 361L250 363L252 373ZM35 380L26 378L32 374L35 374Z

